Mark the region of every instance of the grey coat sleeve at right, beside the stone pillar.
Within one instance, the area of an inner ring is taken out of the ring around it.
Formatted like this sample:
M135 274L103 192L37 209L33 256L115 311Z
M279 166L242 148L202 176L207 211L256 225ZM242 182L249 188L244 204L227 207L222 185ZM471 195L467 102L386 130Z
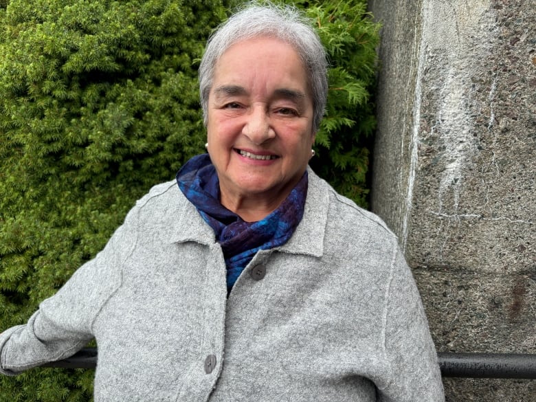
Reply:
M445 401L421 297L399 249L393 258L386 300L384 345L390 381L378 390L378 401Z

